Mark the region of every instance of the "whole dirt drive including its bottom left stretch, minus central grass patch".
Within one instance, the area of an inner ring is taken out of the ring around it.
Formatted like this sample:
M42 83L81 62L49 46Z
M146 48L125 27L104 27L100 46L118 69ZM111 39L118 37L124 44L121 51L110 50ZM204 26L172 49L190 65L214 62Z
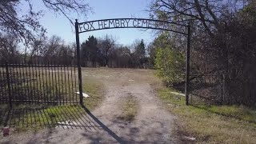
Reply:
M158 81L154 78L153 71L86 69L82 74L83 77L98 78L106 86L105 100L91 112L102 124L102 130L45 130L42 133L18 136L14 138L16 142L176 143L174 134L171 133L174 115L163 109L150 85ZM118 118L122 113L118 103L128 94L136 98L139 104L138 114L132 122Z

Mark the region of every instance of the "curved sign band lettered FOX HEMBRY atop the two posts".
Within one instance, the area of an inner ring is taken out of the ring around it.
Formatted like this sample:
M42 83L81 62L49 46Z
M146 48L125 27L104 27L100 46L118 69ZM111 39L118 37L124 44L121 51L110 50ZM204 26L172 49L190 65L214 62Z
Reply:
M145 18L113 18L113 19L102 19L90 22L78 23L79 33L104 30L104 29L116 29L116 28L146 28L146 29L157 29L157 30L168 30L174 31L180 34L186 34L182 31L172 30L172 25L185 26L175 22L166 22L153 19Z

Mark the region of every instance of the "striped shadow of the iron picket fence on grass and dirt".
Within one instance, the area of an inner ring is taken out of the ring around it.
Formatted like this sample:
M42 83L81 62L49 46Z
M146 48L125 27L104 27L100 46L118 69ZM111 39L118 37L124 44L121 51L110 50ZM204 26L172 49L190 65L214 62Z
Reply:
M0 128L14 130L43 128L101 130L100 123L90 118L81 106L1 107Z

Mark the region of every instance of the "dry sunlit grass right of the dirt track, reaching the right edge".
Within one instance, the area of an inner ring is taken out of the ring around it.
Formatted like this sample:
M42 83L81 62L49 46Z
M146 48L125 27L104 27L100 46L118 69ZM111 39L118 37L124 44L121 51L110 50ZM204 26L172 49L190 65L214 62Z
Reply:
M166 109L178 116L179 135L195 137L198 143L255 143L256 110L246 106L186 106L185 97L158 87Z

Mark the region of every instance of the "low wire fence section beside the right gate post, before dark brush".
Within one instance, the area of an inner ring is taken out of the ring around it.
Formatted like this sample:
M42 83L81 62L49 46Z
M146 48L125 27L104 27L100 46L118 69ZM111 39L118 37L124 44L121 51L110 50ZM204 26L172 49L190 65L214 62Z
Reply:
M190 75L190 104L222 104L224 102L225 82L222 75Z

